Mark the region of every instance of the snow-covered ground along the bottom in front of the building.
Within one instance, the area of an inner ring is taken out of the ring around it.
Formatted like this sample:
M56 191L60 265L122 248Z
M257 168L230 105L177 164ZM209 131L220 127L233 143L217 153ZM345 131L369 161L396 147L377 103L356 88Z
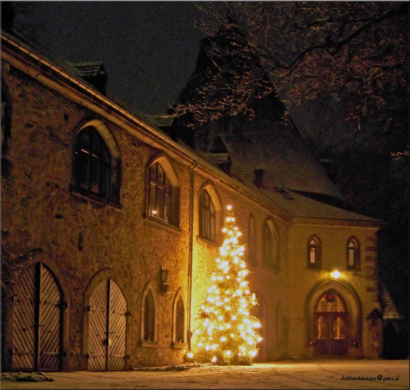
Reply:
M159 371L52 372L53 381L6 379L3 389L408 389L408 360L312 360ZM156 370L156 369L155 369Z

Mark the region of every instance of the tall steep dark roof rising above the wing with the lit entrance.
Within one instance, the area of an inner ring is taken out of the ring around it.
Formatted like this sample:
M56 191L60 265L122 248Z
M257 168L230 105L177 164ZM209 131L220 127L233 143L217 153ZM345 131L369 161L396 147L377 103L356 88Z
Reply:
M231 52L225 48L232 42L235 42L235 53L240 54L240 45L243 46L248 67L254 61L254 66L260 68L258 57L249 54L250 48L244 36L233 28L234 23L230 18L226 23L227 31L224 32L223 26L214 37L209 38L212 45L205 44L207 39L201 42L197 68L179 96L180 103L203 99L203 92L198 91L202 91L204 84L212 82L209 75L220 72L215 67L214 57L225 58L225 53ZM238 37L236 40L232 38L235 34ZM215 48L217 45L220 48ZM242 58L240 55L238 57ZM233 64L231 70L232 56L227 55L227 58L226 62L220 59L225 65L225 72L232 71L236 75L238 64ZM261 85L269 83L273 90L267 77L261 77ZM191 120L189 115L177 118L174 133L211 164L217 164L216 161L224 157L215 156L213 147L224 145L226 150L223 152L228 153L232 163L230 176L293 216L376 221L344 209L341 194L326 175L323 165L308 149L285 105L274 91L262 99L254 99L251 106L253 117L225 117L195 129L188 125ZM260 180L263 185L258 185ZM286 191L279 192L280 188Z

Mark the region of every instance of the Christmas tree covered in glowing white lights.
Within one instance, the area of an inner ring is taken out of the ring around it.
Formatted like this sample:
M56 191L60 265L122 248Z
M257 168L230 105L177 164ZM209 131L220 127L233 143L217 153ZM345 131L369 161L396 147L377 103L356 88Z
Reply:
M241 233L230 206L223 232L224 244L211 275L212 285L197 318L195 359L218 365L250 365L258 353L257 342L262 340L257 331L261 325L249 314L257 302L245 281L244 247L238 244Z

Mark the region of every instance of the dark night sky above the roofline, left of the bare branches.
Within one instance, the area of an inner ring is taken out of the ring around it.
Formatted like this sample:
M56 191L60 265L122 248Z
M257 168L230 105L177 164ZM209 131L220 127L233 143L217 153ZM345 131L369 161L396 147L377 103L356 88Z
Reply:
M131 111L165 113L195 69L204 34L194 2L27 3L16 31L32 22L36 39L63 59L103 61L108 97Z

